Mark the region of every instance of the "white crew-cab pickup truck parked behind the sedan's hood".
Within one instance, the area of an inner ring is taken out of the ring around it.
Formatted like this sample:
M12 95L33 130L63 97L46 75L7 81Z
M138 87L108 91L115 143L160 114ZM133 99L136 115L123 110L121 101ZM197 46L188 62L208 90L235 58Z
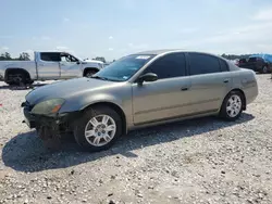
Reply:
M100 61L83 61L67 52L34 52L34 61L0 61L0 80L25 85L34 80L89 77L103 68Z

